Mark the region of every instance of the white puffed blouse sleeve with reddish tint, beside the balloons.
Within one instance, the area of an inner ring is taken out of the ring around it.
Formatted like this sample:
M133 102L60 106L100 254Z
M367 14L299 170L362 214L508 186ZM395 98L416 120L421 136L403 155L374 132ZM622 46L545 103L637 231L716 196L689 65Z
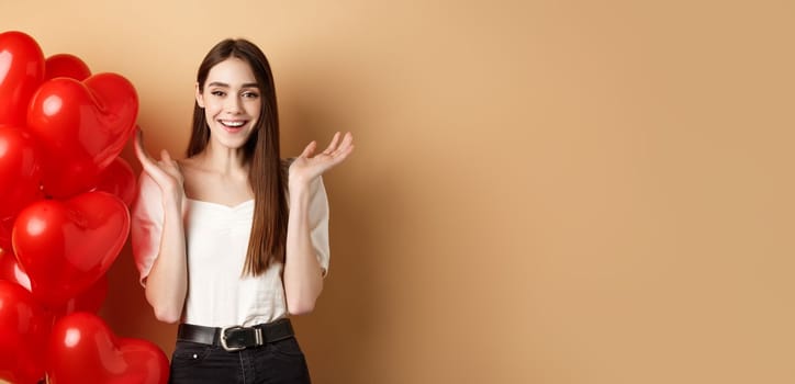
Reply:
M138 196L133 204L131 223L133 257L135 267L141 274L141 285L146 285L146 278L159 253L163 221L160 188L146 172L142 172L138 178Z

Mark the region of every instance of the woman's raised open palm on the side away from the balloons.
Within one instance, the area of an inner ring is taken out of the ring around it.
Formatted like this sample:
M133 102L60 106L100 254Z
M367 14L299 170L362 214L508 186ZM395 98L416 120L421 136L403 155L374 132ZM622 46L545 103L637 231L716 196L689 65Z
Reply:
M317 142L310 143L290 166L290 184L304 183L306 185L325 171L343 162L354 151L354 135L350 132L346 133L341 143L339 135L339 132L334 134L328 147L317 155L314 155Z

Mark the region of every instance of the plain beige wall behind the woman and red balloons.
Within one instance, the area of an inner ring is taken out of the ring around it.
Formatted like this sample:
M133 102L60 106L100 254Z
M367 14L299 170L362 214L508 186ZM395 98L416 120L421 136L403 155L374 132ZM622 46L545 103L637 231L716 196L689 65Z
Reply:
M285 155L355 133L295 319L316 383L793 383L795 5L639 3L3 0L0 29L131 79L152 151L226 36L269 56ZM128 249L110 278L111 327L170 353Z

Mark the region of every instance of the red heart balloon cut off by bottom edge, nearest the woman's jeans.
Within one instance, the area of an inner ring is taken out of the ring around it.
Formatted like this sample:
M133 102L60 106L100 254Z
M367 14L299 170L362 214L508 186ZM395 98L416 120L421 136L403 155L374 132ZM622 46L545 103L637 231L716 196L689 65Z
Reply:
M77 313L53 327L47 375L51 384L165 384L168 359L154 343L117 338L101 318Z

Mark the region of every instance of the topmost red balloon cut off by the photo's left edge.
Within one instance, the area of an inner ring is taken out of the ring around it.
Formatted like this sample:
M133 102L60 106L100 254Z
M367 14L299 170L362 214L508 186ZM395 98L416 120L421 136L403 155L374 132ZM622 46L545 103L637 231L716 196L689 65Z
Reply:
M25 125L27 103L44 80L44 54L33 37L0 33L0 124Z

